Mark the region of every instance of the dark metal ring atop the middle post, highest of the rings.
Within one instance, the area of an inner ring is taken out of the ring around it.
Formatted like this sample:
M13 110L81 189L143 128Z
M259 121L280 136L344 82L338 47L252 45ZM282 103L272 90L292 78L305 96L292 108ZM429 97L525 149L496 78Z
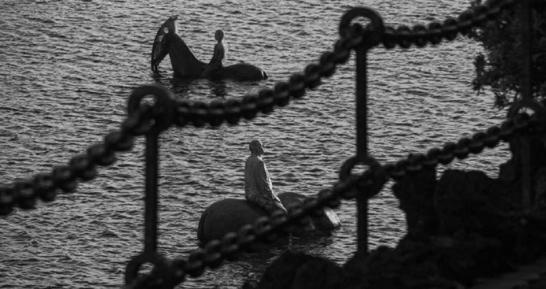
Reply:
M353 21L356 17L365 17L371 22L372 31L370 33L370 37L364 40L367 46L373 47L379 44L385 31L383 19L375 10L365 7L353 8L343 14L339 26L339 33L341 37L347 36L349 25L351 25L351 21Z

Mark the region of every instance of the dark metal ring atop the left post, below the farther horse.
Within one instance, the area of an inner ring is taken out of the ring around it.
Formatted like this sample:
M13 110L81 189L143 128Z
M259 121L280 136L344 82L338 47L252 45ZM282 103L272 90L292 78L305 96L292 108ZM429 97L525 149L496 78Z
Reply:
M153 130L159 133L170 127L174 122L174 109L176 107L174 95L162 85L151 84L137 87L129 96L127 113L133 115L140 108L140 101L147 95L155 98L155 105L152 110Z

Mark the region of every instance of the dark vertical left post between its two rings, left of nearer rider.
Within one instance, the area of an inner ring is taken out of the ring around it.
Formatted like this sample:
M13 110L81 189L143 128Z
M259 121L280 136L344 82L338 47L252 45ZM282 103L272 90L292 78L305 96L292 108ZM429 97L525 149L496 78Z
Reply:
M157 168L159 134L152 129L146 134L146 195L144 216L144 252L157 250Z

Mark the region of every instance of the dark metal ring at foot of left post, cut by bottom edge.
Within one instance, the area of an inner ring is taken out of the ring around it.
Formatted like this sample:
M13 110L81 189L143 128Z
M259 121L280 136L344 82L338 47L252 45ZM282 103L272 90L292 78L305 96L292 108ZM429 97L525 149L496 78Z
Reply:
M171 268L169 261L158 252L144 252L132 258L125 269L125 284L130 284L138 277L138 270L146 262L152 263L154 268L158 269L157 272L163 278L162 288L169 288L173 283L173 268Z

